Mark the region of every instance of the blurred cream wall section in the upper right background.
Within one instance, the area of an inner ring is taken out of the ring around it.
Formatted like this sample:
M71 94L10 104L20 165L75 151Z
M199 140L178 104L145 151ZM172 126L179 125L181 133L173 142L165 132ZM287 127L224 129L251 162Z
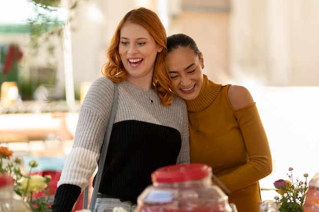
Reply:
M233 0L232 75L245 83L319 85L319 2Z

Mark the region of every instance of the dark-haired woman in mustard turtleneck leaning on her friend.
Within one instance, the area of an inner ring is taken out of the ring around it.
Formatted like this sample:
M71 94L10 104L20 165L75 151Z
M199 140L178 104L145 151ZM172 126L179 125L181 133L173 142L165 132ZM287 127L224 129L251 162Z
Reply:
M203 74L203 54L191 37L169 36L167 48L173 92L188 109L191 163L212 167L238 212L258 212L258 180L272 172L272 157L256 103L245 87Z

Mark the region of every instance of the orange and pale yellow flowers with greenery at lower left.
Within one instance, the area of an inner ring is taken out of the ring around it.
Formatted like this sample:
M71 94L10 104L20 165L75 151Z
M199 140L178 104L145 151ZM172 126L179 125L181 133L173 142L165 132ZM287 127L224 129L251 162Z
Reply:
M14 191L17 195L28 202L32 211L34 212L45 212L49 207L49 197L50 197L50 181L51 176L45 175L44 177L38 174L31 174L32 169L38 166L37 161L30 161L30 170L27 175L21 172L20 166L22 160L15 158L11 160L13 151L8 147L0 146L0 173L5 173L14 178ZM5 165L6 162L6 165ZM44 196L37 197L34 196L38 193L43 192Z

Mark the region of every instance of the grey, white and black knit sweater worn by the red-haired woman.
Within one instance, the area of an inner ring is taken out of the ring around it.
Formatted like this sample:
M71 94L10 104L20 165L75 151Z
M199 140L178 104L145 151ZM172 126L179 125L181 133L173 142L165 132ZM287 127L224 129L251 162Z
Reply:
M151 184L151 172L190 162L188 114L178 97L173 97L171 106L163 106L153 89L142 89L127 81L118 85L118 106L99 192L136 203L138 195ZM88 186L99 160L113 98L113 82L97 78L79 111L53 212L71 211Z

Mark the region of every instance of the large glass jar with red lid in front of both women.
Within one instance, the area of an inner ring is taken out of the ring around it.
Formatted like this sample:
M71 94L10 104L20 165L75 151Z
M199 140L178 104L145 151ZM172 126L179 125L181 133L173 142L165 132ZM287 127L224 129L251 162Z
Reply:
M151 174L153 185L138 197L136 212L232 212L228 196L211 185L204 164L165 166Z

